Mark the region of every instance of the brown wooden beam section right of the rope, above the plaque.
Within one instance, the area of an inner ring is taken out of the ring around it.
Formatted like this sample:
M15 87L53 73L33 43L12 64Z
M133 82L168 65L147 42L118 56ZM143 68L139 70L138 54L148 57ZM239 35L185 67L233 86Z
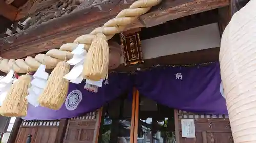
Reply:
M229 0L165 1L140 17L146 27L229 5Z

